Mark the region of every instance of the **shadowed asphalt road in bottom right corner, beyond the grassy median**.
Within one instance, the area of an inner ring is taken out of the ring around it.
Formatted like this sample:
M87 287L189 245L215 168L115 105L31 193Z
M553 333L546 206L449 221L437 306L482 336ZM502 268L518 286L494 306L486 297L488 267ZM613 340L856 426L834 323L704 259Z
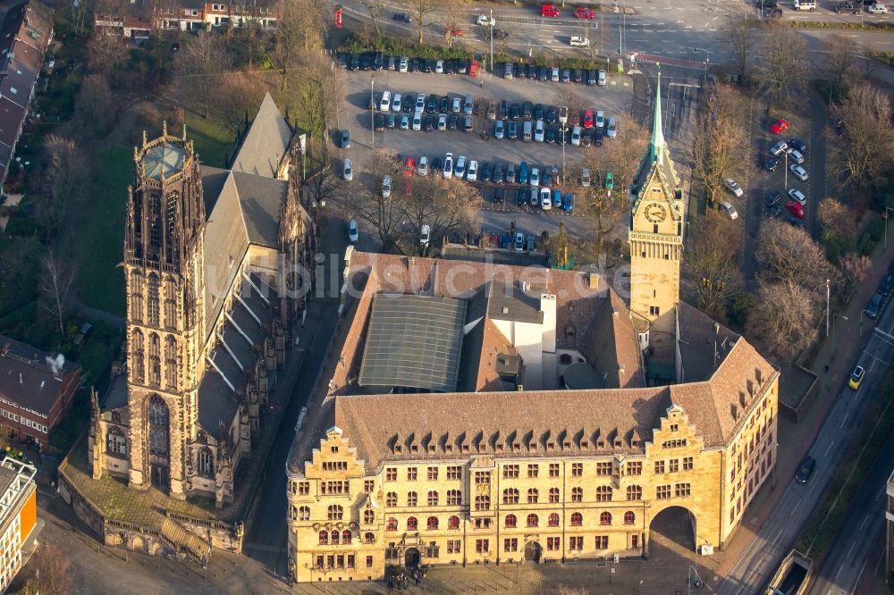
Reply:
M810 592L814 595L849 595L868 567L873 573L873 564L878 559L879 550L873 549L885 527L885 486L894 461L894 434L881 449L881 455L866 473L863 484L849 503L848 515L841 522L841 528L832 542L832 547L822 561L822 566L814 570L814 585Z

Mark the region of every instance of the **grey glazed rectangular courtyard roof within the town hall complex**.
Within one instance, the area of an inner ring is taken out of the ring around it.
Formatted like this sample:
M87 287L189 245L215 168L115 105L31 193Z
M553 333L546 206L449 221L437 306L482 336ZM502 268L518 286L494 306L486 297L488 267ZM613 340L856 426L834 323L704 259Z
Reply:
M456 390L465 320L460 299L376 294L358 384Z

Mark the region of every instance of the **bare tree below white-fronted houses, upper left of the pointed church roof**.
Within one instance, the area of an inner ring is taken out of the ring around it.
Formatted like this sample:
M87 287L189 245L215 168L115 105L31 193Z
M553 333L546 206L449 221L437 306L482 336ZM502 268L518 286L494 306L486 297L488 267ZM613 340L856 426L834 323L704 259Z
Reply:
M200 33L181 49L176 69L187 96L201 107L203 118L211 113L221 74L231 66L223 41L213 33Z

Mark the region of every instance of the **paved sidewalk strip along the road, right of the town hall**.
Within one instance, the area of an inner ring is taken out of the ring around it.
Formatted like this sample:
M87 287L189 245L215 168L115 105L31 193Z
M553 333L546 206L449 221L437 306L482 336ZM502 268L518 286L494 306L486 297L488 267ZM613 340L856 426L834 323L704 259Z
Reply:
M730 572L732 566L738 562L742 551L755 537L767 518L772 513L776 504L782 497L789 478L795 474L797 465L801 462L807 449L819 432L822 422L831 409L834 398L841 390L842 383L848 378L856 357L864 348L865 340L873 331L873 323L864 320L863 337L859 336L860 314L872 299L879 283L888 273L888 267L894 256L894 242L890 242L887 251L879 244L873 251L873 267L866 274L865 281L857 290L854 298L850 300L847 308L836 314L848 317L847 321L838 320L836 323L836 335L839 338L838 345L832 345L831 337L822 342L813 364L807 367L819 377L819 390L814 396L813 402L806 407L804 419L799 423L791 423L780 416L778 458L770 487L764 487L748 507L742 516L742 525L739 527L733 540L723 552L723 560L715 575L707 579L708 584L719 582L720 576ZM825 366L829 366L826 372Z

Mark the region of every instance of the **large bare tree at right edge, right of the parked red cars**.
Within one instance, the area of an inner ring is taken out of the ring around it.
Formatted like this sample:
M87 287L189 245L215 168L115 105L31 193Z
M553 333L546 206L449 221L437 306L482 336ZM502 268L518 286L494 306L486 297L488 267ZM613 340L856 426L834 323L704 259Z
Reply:
M881 176L892 163L894 125L891 105L881 89L862 82L848 89L848 96L832 107L832 116L844 120L848 134L829 143L833 163L855 187Z

